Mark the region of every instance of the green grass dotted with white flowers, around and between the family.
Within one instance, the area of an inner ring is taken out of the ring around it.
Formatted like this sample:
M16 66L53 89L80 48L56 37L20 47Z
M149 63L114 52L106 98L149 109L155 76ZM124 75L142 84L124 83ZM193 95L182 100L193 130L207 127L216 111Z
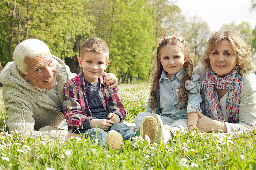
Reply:
M148 87L148 83L120 85L118 93L128 122L145 111ZM0 169L256 169L255 131L223 138L217 133L196 136L178 132L168 144L148 145L138 138L118 151L84 138L22 141L15 132L5 133L2 97L0 102Z

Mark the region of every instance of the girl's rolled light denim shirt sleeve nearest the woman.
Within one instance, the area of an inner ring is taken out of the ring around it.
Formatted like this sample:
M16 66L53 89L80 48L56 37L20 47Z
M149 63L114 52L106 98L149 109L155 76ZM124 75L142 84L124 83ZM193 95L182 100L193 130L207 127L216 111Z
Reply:
M199 79L199 75L193 74L193 83L194 86L190 90L190 94L188 95L188 106L187 106L187 115L190 112L196 112L196 109L198 108L201 112L200 103L202 101L201 95L200 95L200 87L198 86L197 80ZM191 94L196 93L196 94Z

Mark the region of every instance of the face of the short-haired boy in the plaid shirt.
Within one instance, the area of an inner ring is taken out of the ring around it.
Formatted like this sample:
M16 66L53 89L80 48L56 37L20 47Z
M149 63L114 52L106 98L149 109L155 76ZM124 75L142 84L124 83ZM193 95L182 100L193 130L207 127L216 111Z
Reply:
M109 61L106 59L106 55L93 52L85 52L78 57L79 66L84 71L84 79L89 83L95 83L108 67Z

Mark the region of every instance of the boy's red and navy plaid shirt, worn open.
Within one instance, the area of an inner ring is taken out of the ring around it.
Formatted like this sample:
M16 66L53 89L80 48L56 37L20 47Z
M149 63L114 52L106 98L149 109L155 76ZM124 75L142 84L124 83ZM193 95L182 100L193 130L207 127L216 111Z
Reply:
M108 114L115 113L120 117L121 122L123 122L126 117L124 106L120 101L116 90L110 89L109 86L103 82L102 76L100 76L99 94L106 112ZM83 70L64 85L63 111L68 124L68 130L71 132L74 132L76 129L88 129L90 125L86 125L87 128L85 128L84 121L86 119L96 119L95 117L92 117L86 99Z

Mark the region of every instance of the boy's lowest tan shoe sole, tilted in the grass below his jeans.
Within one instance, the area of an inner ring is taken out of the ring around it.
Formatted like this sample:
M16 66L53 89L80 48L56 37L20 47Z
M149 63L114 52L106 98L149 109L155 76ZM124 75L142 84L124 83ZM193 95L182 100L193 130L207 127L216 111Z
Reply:
M106 136L106 142L109 148L113 148L113 149L121 149L123 147L123 138L120 135L120 133L118 133L115 130L109 130Z

